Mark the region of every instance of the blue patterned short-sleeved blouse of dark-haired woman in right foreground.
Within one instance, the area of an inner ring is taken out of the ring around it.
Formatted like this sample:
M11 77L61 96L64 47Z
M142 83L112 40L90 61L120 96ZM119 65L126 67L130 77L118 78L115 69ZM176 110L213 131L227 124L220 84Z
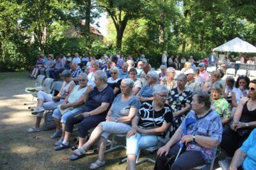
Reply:
M207 136L221 142L222 124L220 116L213 110L210 110L204 117L198 118L195 111L190 110L186 118L195 119L195 124L187 127L187 134ZM183 120L179 129L184 130L186 118ZM201 152L205 163L210 163L214 159L214 150L216 148L204 148L197 143L188 143L186 150L196 150Z

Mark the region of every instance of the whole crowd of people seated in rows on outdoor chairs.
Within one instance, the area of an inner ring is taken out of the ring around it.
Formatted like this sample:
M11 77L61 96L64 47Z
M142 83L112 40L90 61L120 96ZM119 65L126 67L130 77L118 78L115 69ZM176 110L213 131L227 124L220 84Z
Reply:
M241 166L241 160L253 162L253 158L246 159L246 154L250 151L248 143L255 138L243 142L256 127L256 80L250 81L245 75L237 81L230 76L221 80L223 71L209 75L204 63L195 67L185 62L182 73L175 74L173 67L165 65L157 73L147 60L138 60L135 67L134 62L128 64L120 55L104 55L99 60L90 57L85 71L80 62L78 53L73 58L68 53L54 60L48 55L42 66L38 65L47 77L58 78L61 73L63 86L54 97L38 92L38 103L32 111L36 123L27 130L40 131L44 111L52 110L56 132L51 138L59 138L54 150L63 150L70 147L70 134L79 124L79 143L70 160L86 155L97 141L99 155L90 169L104 166L109 135L127 134L128 169L136 169L138 150L156 146L160 138L169 141L159 148L154 169L190 169L209 164L219 145L230 157L238 149L232 167ZM193 124L186 127L191 119ZM90 129L94 129L92 134ZM166 131L170 131L169 136ZM174 163L168 161L177 154L179 143L184 143L185 150Z

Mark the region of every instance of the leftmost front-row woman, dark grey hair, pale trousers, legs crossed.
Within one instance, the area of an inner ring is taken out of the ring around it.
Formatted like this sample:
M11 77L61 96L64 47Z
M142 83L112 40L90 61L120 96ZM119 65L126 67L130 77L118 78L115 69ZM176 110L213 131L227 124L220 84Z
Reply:
M44 115L45 110L54 110L58 107L59 104L63 103L65 97L70 94L70 92L75 87L76 83L72 81L71 71L64 70L61 73L61 77L63 78L63 84L61 87L60 92L57 96L52 97L50 94L45 92L39 91L37 93L37 106L31 112L32 115L36 115L36 123L35 126L27 129L27 132L39 132L40 129L40 122Z

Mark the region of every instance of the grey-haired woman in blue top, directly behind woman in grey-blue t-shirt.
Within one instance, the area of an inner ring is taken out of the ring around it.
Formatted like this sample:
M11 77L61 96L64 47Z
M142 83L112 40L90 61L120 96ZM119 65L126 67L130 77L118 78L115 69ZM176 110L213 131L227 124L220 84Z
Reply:
M157 79L158 79L158 74L156 73L156 71L148 71L147 73L148 83L144 85L140 90L140 92L137 94L141 102L154 100L153 87L157 85Z

